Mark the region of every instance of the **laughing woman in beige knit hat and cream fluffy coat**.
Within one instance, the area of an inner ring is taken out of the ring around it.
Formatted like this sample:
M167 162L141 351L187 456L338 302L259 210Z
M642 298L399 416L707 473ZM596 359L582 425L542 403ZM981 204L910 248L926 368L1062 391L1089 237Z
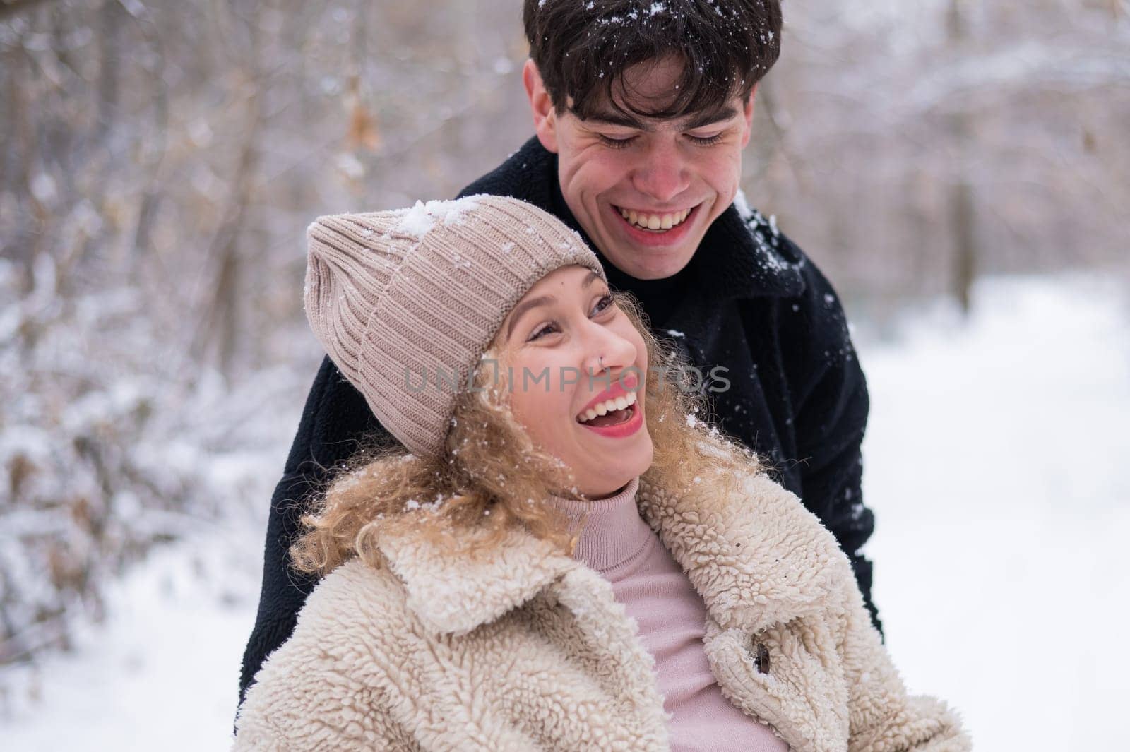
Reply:
M484 195L308 236L311 325L403 447L304 518L324 579L236 749L968 749L557 219Z

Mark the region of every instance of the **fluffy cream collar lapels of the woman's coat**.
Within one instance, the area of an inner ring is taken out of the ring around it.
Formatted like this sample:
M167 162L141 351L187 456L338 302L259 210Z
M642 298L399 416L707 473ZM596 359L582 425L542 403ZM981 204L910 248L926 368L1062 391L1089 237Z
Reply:
M827 607L835 569L847 566L835 539L794 495L765 475L739 482L738 493L696 484L694 492L679 496L641 481L636 502L723 629L759 632ZM446 532L459 540L485 534ZM564 586L565 574L584 568L524 531L508 531L499 546L475 558L453 552L452 540L432 540L416 525L393 525L379 543L403 583L408 607L440 633L462 635L489 623L558 580Z

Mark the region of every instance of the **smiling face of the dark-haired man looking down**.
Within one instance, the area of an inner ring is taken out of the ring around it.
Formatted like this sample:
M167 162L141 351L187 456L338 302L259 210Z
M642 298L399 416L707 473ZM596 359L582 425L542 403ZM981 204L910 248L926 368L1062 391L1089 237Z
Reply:
M681 67L669 58L628 69L631 104L660 110L673 98ZM532 60L523 78L538 138L558 156L565 201L605 257L637 279L686 266L738 192L753 93L748 102L734 97L722 111L677 120L626 117L607 103L581 120L571 108L554 111Z

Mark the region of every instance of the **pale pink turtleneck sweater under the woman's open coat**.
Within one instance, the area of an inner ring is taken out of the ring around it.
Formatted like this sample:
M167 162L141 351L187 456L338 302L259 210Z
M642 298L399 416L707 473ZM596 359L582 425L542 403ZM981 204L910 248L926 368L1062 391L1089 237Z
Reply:
M640 516L638 479L597 501L554 497L574 519L589 510L573 558L599 571L655 658L672 752L786 752L789 745L722 696L703 650L706 604Z

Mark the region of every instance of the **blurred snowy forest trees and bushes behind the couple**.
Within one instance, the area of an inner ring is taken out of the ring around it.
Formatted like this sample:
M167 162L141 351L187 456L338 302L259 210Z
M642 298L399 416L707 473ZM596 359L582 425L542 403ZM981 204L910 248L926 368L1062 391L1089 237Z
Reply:
M989 273L1127 274L1128 0L784 12L744 189L857 323ZM520 16L0 0L0 665L66 646L155 543L266 515L321 357L305 226L450 198L531 135Z

